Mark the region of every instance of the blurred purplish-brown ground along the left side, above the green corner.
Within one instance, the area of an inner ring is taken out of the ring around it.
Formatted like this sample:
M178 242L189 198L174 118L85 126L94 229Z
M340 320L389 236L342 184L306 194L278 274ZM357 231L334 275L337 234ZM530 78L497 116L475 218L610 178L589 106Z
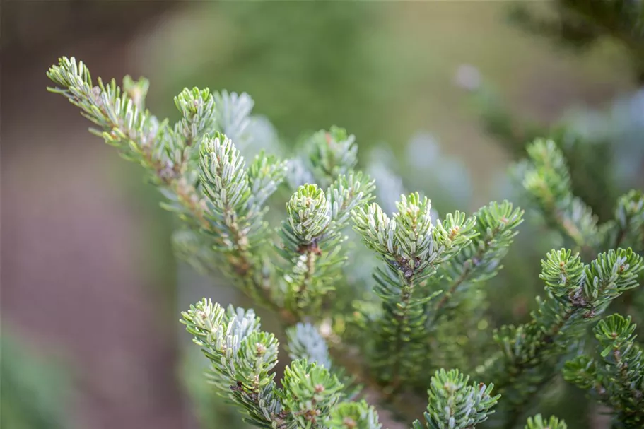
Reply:
M46 92L45 71L76 55L97 76L138 76L132 43L175 7L2 4L2 329L71 368L78 428L186 427L177 317L168 317L172 295L160 293L174 280L154 274L163 256L149 242L163 221L133 189L144 187L139 172L124 171L73 106ZM158 239L166 249L169 233Z

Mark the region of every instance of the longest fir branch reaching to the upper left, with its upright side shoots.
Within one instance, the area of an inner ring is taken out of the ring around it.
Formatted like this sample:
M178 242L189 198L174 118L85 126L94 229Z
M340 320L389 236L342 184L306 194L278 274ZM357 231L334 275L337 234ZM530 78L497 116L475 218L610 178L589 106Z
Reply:
M177 95L175 105L182 119L171 128L168 121L159 122L148 110L140 110L148 88L145 80L134 83L126 78L123 91L114 80L105 86L99 79L98 86L93 86L85 64L74 58L60 59L47 76L58 86L50 91L64 95L100 127L92 130L94 134L146 168L168 200L164 208L177 213L188 226L208 233L204 245L214 245L227 255L224 271L242 290L259 293L264 303L294 322L293 315L279 309L267 287L272 282L251 250L262 244L262 204L285 177L286 163L258 157L247 172L230 139L221 134L211 139L207 133L218 119L209 90L185 89Z

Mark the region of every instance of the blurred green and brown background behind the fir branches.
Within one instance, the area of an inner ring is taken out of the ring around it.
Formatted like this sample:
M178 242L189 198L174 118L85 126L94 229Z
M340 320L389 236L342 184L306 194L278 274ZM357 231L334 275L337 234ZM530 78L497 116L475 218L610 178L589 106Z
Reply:
M177 118L172 97L185 86L207 86L252 95L254 112L287 147L309 131L345 127L363 165L378 148L386 159L372 159L404 172L404 187L430 196L438 211L472 211L512 195L506 170L515 153L486 132L480 105L463 86L489 88L518 118L544 125L586 118L582 128L637 90L619 45L604 40L574 54L510 25L510 6L4 2L0 302L2 336L16 341L3 344L1 358L12 365L21 359L11 360L10 351L28 350L43 365L56 361L57 368L45 366L66 381L40 380L42 392L53 384L60 394L30 394L39 388L31 383L27 393L8 396L2 372L2 426L54 427L16 423L54 409L52 418L73 428L230 427L222 425L226 411L199 393L207 389L182 352L188 339L177 319L203 295L247 302L224 281L213 285L175 263L172 221L141 170L90 136L74 107L45 92L45 71L58 57L83 59L94 76L148 77L147 104L160 117ZM551 12L550 2L532 7ZM615 186L632 186L631 176ZM525 252L513 254L514 269L503 274L513 288L498 290L505 297L498 319L527 317L541 288L539 255L552 245L548 236L520 238ZM15 376L32 367L6 368ZM573 428L602 427L575 417L580 412L570 406L563 417Z

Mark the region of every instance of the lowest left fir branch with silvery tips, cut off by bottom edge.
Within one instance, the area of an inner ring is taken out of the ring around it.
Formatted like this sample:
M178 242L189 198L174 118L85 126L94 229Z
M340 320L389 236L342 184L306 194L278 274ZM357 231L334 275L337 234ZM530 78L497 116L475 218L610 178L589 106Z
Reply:
M278 388L271 370L279 343L260 330L252 310L223 310L204 298L182 312L182 323L211 361L211 382L218 394L247 414L248 423L267 429L336 428L341 416L344 423L351 418L366 425L359 427L380 428L375 410L363 401L346 400L344 384L319 363L293 360Z

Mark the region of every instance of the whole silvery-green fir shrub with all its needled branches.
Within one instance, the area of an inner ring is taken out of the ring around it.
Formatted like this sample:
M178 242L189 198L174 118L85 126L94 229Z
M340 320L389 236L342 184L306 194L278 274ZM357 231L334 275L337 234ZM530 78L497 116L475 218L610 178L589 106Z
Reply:
M246 160L238 144L262 139L248 95L185 89L175 98L181 119L170 124L145 109L144 79L95 84L74 58L60 59L48 76L51 90L95 124L93 133L141 164L163 193L163 207L180 225L177 254L226 276L281 320L290 362L279 377L281 332L264 331L254 310L204 298L182 313L210 362L206 379L247 422L285 429L381 428L385 420L390 428L566 428L554 417L525 423L526 413L541 387L580 353L584 329L637 286L642 258L628 246L638 244L641 225L631 219L642 208L628 199L623 216L595 225L566 191L551 143L530 149L527 188L557 225L576 232L570 249L541 261L544 295L530 321L494 330L487 292L523 216L510 202L438 216L426 196L405 192L391 213L382 208L379 177L357 170L355 137L344 129L313 134L288 160L261 151ZM290 196L279 201L283 192ZM279 205L286 210L275 216L269 206ZM596 242L611 247L582 259ZM353 269L356 261L373 269ZM628 334L618 338L623 361L640 357L628 348ZM568 372L580 368L579 359ZM606 372L621 377L623 365L613 365ZM636 375L624 377L606 389L626 398L626 382ZM616 422L629 425L623 411L635 405L614 404Z

